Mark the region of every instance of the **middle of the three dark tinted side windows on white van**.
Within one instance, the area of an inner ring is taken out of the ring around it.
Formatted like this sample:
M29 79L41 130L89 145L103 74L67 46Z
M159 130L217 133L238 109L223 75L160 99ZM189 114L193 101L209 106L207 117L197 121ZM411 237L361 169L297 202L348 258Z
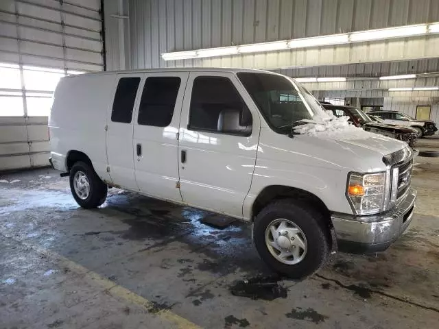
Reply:
M166 127L176 106L180 77L148 77L139 106L139 125Z

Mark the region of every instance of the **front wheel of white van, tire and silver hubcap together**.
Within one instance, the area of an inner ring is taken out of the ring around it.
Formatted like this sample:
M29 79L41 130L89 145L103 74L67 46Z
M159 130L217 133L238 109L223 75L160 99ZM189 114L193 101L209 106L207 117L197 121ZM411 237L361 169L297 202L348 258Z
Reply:
M261 258L290 278L317 271L329 254L320 212L284 199L266 206L254 223L254 244Z

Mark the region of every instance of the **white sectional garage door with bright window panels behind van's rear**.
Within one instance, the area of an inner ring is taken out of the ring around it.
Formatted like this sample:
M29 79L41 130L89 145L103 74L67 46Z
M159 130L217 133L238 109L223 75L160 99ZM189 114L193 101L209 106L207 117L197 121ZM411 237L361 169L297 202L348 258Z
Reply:
M100 0L0 0L0 171L49 164L64 75L104 69Z

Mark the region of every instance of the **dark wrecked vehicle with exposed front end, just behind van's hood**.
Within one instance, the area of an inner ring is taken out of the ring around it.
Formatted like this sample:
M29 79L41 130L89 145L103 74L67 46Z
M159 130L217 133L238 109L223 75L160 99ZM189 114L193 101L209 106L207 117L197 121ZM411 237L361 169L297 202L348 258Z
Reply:
M404 141L411 147L414 147L416 144L418 132L414 128L386 125L382 120L381 123L377 122L377 119L373 120L368 114L353 106L331 105L327 103L323 103L322 106L327 110L331 110L335 117L349 117L349 122L363 128L366 132L375 132L375 134L396 138Z

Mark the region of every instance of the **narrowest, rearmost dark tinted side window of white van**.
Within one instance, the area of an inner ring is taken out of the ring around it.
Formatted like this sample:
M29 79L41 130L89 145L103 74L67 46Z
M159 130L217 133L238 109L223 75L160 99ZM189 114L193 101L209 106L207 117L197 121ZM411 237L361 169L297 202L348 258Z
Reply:
M140 77L121 77L112 103L111 121L131 123L132 108L136 100Z

